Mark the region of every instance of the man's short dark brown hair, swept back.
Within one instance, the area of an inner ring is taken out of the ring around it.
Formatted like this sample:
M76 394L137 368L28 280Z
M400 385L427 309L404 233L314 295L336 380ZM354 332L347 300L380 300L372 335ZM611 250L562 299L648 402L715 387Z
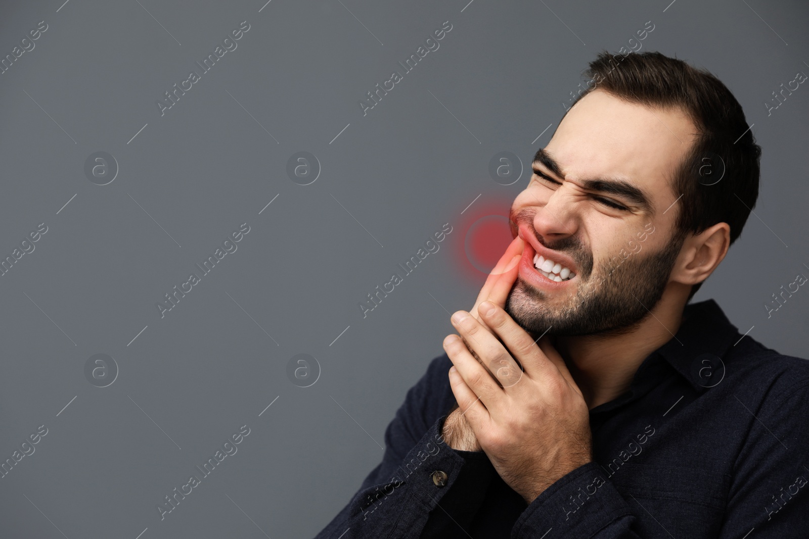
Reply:
M671 191L682 194L672 241L726 222L735 242L758 198L761 147L727 86L705 69L653 52L623 56L604 51L585 74L590 81L574 104L599 89L629 103L677 107L688 115L697 137L672 174ZM689 300L700 286L693 285Z

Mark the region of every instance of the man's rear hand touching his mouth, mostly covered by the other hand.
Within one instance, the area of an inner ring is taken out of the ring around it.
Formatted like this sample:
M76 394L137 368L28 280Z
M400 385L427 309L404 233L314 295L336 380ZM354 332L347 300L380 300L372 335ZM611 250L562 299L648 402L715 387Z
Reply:
M523 253L524 245L521 238L515 238L486 278L481 293L477 295L475 305L469 311L479 322L482 321L482 318L477 314L477 307L483 301L493 301L501 307L506 306L506 298L517 278L519 256ZM477 443L475 433L464 416L463 408L455 408L447 416L447 419L444 420L442 436L447 445L453 449L481 451L481 444Z

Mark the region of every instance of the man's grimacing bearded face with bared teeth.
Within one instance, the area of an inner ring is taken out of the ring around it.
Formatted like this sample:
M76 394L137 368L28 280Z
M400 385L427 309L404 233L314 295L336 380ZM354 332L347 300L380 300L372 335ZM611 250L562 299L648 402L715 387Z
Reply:
M599 90L570 109L510 210L526 242L506 302L520 326L588 335L625 331L648 314L680 253L682 200L671 205L680 196L671 179L695 131L679 110ZM552 263L537 269L535 255Z

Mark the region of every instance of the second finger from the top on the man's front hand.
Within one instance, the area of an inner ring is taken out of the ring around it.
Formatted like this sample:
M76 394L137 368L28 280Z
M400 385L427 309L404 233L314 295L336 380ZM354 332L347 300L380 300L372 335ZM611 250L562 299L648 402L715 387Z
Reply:
M493 380L497 381L500 387L510 387L520 380L523 376L522 369L510 356L506 347L484 324L464 313L464 311L455 313L451 322L455 329L458 330L458 333L464 339L467 339L467 343L471 344L469 349L477 353L477 356L481 358L481 362L489 369ZM460 366L459 370L472 390L480 394L477 392L475 384L465 376L464 370ZM489 404L486 404L486 407L489 407Z

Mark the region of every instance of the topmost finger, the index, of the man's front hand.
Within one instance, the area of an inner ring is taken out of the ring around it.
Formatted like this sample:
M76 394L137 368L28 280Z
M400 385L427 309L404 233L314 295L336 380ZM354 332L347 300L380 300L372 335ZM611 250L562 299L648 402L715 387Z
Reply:
M525 373L529 377L533 380L549 380L561 376L557 364L545 356L532 336L523 330L502 307L494 305L491 301L484 301L481 303L481 316L486 325L502 339L506 348L523 365ZM558 356L558 359L561 360L561 356ZM562 366L564 367L564 361L562 361Z

